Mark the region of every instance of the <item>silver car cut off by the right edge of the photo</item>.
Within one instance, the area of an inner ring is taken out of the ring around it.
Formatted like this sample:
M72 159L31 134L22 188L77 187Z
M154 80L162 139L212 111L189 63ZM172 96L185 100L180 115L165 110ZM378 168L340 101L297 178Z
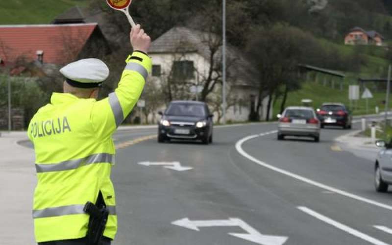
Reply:
M392 184L392 142L377 141L376 145L382 149L377 154L374 165L374 186L377 192L387 192Z

